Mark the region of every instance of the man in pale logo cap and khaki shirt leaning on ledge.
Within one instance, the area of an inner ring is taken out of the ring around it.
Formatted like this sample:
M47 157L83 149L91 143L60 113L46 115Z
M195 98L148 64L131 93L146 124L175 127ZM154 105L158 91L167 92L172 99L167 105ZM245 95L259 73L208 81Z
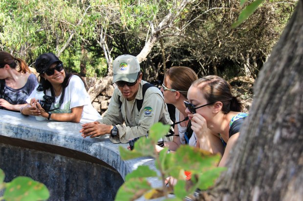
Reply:
M108 111L103 119L82 125L80 132L84 138L110 134L111 142L128 143L146 135L154 123L172 124L161 91L142 80L137 57L118 56L113 61L112 82L117 87Z

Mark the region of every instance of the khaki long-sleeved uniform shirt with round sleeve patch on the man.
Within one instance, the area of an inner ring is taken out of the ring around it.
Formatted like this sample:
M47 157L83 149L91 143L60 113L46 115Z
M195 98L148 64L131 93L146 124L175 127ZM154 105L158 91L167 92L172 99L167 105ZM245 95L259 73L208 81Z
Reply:
M115 125L119 132L115 137L109 137L113 143L128 143L130 139L147 135L151 126L157 122L165 125L172 124L167 105L164 103L162 92L156 87L150 87L144 95L144 101L140 111L137 109L137 100L142 100L142 85L147 83L141 80L139 91L133 102L130 116L127 116L126 98L122 96L116 87L110 99L108 111L103 119L98 120L101 124ZM122 102L121 108L118 101ZM125 123L125 124L124 124ZM172 137L164 138L164 141L172 141Z

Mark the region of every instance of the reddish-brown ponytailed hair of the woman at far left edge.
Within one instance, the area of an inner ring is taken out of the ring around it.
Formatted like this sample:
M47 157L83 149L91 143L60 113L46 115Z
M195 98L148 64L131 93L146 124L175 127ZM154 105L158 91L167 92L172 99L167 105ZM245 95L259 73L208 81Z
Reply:
M3 68L6 64L13 69L19 67L18 72L20 73L31 73L29 67L21 58L15 58L7 52L0 51L0 68Z

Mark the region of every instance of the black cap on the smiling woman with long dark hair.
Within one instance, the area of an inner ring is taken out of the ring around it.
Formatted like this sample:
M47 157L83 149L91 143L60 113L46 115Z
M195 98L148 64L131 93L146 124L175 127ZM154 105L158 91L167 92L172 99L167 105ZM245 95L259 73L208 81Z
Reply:
M44 73L45 70L49 69L49 67L55 62L62 63L53 53L42 54L36 59L36 71L38 73Z

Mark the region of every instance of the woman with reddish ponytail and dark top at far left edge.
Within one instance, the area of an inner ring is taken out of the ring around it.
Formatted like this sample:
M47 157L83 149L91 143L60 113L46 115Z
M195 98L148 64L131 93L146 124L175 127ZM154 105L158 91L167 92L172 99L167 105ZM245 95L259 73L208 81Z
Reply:
M21 58L0 52L0 109L20 111L38 84Z

